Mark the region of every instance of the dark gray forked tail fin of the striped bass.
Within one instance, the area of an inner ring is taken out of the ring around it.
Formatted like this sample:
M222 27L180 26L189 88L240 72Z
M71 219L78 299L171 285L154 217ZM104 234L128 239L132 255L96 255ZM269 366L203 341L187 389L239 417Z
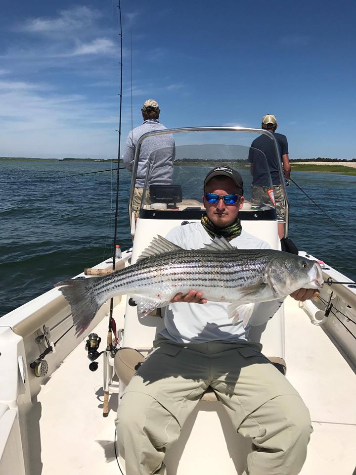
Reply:
M89 327L103 304L97 300L93 291L101 279L102 277L69 279L54 284L55 287L60 287L59 290L71 306L73 323L78 336Z

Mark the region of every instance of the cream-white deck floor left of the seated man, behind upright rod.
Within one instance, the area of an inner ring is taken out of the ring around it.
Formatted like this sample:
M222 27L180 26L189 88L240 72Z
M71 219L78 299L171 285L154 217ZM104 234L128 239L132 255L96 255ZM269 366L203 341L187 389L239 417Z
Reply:
M126 299L114 309L125 312ZM114 313L114 317L115 317ZM108 319L93 330L106 345ZM103 356L95 372L89 370L85 340L65 359L38 395L42 404L41 475L120 473L115 458L114 435L118 394L110 394L109 415L102 416ZM34 474L35 475L35 474ZM40 475L40 474L36 474Z

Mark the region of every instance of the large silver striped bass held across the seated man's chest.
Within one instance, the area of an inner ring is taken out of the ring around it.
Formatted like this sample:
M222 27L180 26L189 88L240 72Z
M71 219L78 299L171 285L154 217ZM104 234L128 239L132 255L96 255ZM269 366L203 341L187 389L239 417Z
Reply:
M323 285L320 265L305 257L273 249L237 249L215 238L203 249L185 250L161 236L129 267L106 277L59 282L72 309L78 334L88 328L111 297L134 297L139 317L165 307L178 293L203 292L215 302L230 302L228 315L241 304L281 300L299 288Z

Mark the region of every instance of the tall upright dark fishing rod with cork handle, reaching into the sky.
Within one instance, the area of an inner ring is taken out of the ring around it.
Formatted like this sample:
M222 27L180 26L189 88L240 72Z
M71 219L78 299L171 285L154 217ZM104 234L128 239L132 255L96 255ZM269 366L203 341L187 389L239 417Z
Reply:
M118 1L118 14L119 14L119 23L120 23L120 112L119 112L119 143L118 143L118 163L120 161L120 145L121 145L121 114L122 114L122 84L123 84L123 44L122 44L122 19L121 19L121 3ZM114 229L114 252L113 252L113 261L112 268L115 270L115 260L116 260L116 240L117 240L117 227L118 227L118 215L119 215L119 178L120 178L120 168L117 167L117 178L116 178L116 206L115 206L115 229ZM108 334L106 340L106 350L104 352L104 403L103 403L103 417L107 417L109 414L109 388L108 388L108 372L109 368L109 356L112 351L112 334L113 330L116 332L116 324L113 319L113 307L114 299L110 299L110 311L109 311L109 325L108 325ZM116 336L115 336L116 337Z

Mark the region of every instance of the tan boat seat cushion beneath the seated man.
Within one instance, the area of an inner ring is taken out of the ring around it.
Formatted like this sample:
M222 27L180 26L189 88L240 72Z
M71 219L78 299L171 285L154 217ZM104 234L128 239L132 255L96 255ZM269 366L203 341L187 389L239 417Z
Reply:
M268 359L282 374L286 374L287 366L283 358L270 356ZM144 360L145 357L135 348L119 348L114 358L115 373L119 380L127 386ZM201 400L217 402L219 398L213 388L209 387L203 394Z

